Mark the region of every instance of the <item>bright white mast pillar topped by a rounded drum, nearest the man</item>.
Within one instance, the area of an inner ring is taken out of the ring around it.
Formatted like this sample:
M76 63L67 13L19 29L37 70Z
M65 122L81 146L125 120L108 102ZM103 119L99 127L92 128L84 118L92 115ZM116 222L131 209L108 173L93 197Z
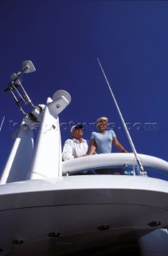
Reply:
M62 176L61 133L58 115L70 102L71 96L64 90L57 90L53 94L53 99L48 98L33 153L30 179Z

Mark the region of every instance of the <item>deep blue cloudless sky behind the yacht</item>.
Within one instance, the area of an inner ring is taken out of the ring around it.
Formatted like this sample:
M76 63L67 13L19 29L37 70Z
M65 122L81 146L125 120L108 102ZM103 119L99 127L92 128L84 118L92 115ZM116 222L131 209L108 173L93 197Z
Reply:
M84 138L90 138L96 119L107 116L131 151L100 58L137 152L168 161L167 13L167 1L2 0L0 171L23 118L3 90L27 59L37 71L24 74L22 84L35 105L56 90L72 96L60 115L62 143L72 124L84 123Z

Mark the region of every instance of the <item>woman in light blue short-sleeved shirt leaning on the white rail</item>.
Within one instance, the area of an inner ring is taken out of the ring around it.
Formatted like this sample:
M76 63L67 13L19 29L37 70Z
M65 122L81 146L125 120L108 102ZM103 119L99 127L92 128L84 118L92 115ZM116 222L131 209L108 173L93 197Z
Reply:
M88 154L93 154L95 150L97 154L111 153L112 143L119 151L127 153L127 150L117 140L114 130L107 130L107 118L98 118L96 126L98 132L92 132L91 147Z

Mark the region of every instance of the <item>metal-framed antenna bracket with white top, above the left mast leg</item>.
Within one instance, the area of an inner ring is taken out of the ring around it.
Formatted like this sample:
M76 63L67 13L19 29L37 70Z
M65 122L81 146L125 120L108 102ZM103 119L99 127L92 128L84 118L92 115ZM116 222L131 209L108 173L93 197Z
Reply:
M6 87L6 89L4 90L5 92L10 91L10 93L14 97L14 100L17 103L19 109L25 115L26 115L26 113L23 110L23 107L21 106L21 103L23 105L26 105L26 104L30 103L33 107L35 107L35 106L31 102L31 100L30 100L28 94L26 93L24 87L21 85L21 75L24 74L24 73L32 73L35 70L36 69L33 66L33 63L31 61L22 62L21 63L21 71L19 71L17 74L16 73L11 74L10 79L12 81L10 82L10 85L8 87ZM21 92L19 92L18 87L21 88Z

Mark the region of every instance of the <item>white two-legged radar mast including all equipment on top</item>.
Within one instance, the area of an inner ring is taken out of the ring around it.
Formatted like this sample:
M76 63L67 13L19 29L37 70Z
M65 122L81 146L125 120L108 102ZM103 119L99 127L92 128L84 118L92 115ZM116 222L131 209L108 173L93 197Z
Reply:
M58 178L62 175L59 114L71 102L71 96L64 90L57 90L53 98L47 99L46 105L33 105L21 85L21 75L36 69L31 61L25 61L22 62L21 70L11 75L12 82L5 92L12 94L25 117L16 134L0 184L25 179ZM33 106L30 113L25 112L27 104ZM39 132L36 146L33 147L33 130L37 125Z

